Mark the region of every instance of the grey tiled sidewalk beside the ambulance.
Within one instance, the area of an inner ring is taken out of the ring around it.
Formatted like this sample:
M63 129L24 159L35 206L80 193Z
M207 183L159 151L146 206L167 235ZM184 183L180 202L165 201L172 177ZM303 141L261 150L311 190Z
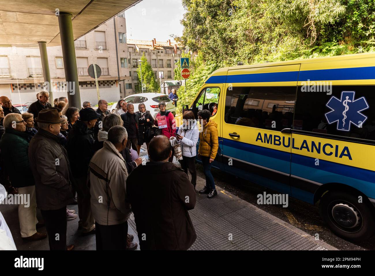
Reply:
M196 189L205 180L198 177ZM197 239L189 250L337 250L308 233L216 187L211 199L197 192L189 211ZM128 220L135 228L134 216Z

